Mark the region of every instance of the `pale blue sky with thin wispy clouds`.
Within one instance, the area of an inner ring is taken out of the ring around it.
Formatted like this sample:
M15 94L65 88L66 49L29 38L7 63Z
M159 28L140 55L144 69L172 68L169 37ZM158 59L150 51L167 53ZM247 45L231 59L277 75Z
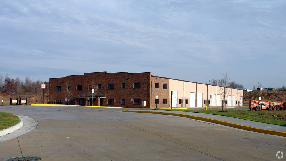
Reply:
M1 0L0 73L286 83L285 0ZM256 88L256 87L255 87Z

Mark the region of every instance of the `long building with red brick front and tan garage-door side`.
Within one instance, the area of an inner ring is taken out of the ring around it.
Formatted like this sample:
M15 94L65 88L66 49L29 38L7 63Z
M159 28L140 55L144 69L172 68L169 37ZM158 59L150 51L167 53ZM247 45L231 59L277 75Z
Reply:
M151 72L84 73L51 78L49 83L50 101L65 103L67 98L79 105L138 108L146 101L147 108L205 107L222 106L224 100L222 87L153 76ZM237 106L242 100L243 90L230 88L225 103Z

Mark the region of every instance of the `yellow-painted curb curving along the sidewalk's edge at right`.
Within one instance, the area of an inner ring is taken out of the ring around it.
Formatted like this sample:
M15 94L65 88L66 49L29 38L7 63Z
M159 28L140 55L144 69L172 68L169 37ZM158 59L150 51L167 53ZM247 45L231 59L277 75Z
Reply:
M264 133L264 134L270 134L270 135L277 135L277 136L286 137L286 133L282 132L282 131L260 129L260 128L256 128L256 127L250 127L250 126L234 124L234 123L230 123L230 122L225 122L225 121L220 121L220 120L215 120L215 119L210 119L210 118L205 118L205 117L180 114L180 113L168 113L168 112L157 112L157 111L136 111L136 110L127 110L127 111L125 110L125 111L122 111L122 112L153 113L153 114L160 114L160 115L180 116L180 117L186 117L186 118L190 118L190 119L195 119L195 120L201 120L201 121L211 122L211 123L215 123L215 124L220 124L220 125L224 125L224 126L234 127L234 128L237 128L237 129L243 129L243 130L247 130L247 131L253 131L253 132L258 132L258 133Z

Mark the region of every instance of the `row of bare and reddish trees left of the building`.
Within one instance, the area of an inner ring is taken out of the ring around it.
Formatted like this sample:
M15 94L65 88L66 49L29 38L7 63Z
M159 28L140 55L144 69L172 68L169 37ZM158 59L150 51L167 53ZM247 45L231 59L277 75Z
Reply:
M42 80L33 81L29 76L25 77L22 81L19 77L10 78L9 74L5 77L0 74L0 93L40 93L42 91L41 84L46 84L46 89L49 90L48 82L43 82Z

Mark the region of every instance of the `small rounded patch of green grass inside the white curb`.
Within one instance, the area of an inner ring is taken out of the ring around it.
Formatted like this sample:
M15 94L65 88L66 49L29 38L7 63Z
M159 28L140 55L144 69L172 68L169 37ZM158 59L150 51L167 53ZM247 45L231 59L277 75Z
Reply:
M10 113L0 112L0 130L16 125L20 121L18 116Z

